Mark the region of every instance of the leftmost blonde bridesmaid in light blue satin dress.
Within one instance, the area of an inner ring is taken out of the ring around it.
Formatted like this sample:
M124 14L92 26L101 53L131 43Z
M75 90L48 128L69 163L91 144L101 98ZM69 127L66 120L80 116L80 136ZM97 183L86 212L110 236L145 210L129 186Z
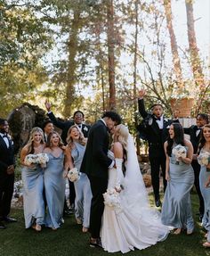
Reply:
M30 132L28 144L20 152L23 181L23 207L25 226L41 231L44 224L44 180L43 169L39 165L24 163L28 154L37 154L44 151L44 134L41 128L33 128Z

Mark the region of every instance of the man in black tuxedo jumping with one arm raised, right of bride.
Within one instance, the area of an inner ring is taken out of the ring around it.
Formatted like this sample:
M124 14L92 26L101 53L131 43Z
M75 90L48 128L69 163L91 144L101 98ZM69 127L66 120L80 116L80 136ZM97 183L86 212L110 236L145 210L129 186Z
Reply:
M152 114L145 110L143 97L145 90L139 91L139 112L144 119L144 127L139 129L140 136L148 140L149 143L149 162L151 167L151 182L155 195L156 206L161 206L159 198L159 173L160 168L163 174L164 191L166 190L166 154L164 143L168 136L168 128L174 120L168 120L163 115L161 104L154 104L151 108ZM178 120L176 120L178 121Z

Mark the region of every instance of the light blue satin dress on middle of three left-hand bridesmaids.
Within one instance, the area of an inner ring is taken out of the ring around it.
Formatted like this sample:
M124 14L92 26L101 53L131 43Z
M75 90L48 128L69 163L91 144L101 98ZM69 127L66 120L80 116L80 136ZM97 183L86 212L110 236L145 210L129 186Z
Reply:
M63 178L64 153L55 157L47 153L49 161L44 169L44 190L47 202L45 226L58 228L62 223L65 200L65 178Z

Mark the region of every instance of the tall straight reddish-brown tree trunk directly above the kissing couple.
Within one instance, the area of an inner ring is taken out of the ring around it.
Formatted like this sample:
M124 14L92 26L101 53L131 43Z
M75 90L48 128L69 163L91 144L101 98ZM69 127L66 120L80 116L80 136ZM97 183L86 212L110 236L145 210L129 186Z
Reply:
M115 88L115 29L113 0L107 1L107 37L109 57L109 110L116 110Z

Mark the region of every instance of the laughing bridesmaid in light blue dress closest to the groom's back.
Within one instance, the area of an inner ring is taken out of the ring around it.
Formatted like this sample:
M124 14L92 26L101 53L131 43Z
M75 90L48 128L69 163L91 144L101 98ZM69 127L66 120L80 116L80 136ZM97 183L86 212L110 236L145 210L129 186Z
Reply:
M69 162L70 169L76 167L80 170L81 163L83 161L85 153L86 138L83 136L82 132L77 128L77 126L72 126L69 128L67 143L69 148L69 153L73 161ZM90 210L91 210L91 200L92 192L90 181L85 173L81 173L80 178L74 182L76 199L75 199L75 215L77 224L83 224L82 231L85 233L88 231L90 223Z

